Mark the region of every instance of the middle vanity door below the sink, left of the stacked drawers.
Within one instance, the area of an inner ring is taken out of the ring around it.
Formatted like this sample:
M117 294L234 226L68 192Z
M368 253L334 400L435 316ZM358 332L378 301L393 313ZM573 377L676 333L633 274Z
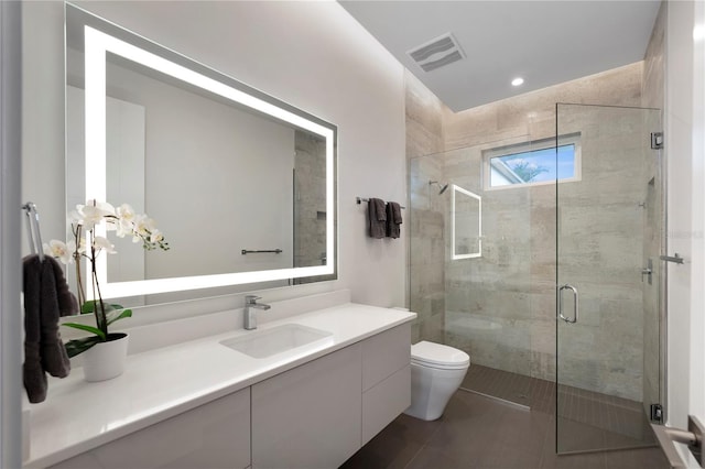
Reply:
M355 345L252 386L253 468L334 468L360 447Z

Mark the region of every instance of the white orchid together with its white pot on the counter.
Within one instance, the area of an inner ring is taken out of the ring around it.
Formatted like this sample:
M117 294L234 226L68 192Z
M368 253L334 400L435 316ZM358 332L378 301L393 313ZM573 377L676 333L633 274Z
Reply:
M61 260L64 264L76 265L76 283L80 314L93 314L96 325L64 323L90 332L90 336L69 340L65 343L69 358L84 353L84 375L86 381L104 381L120 375L124 371L128 336L124 332L109 332L108 327L126 317L132 310L102 299L96 262L101 252L115 254L115 246L108 238L96 234L96 227L105 223L106 231L115 231L119 238L132 237L132 242L141 243L144 250L169 250L169 243L156 228L154 220L147 215L138 215L132 207L122 204L117 209L107 203L88 200L77 205L68 214L72 239L67 242L51 240L44 244L44 253ZM80 272L82 260L88 260L90 269L91 299L86 299L84 279Z

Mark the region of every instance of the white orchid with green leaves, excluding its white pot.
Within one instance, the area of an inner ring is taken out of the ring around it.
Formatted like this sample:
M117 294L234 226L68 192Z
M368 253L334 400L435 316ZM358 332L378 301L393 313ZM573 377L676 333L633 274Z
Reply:
M142 243L145 250L162 249L169 250L169 243L164 236L156 228L153 219L145 214L138 215L128 204L115 208L107 203L88 200L86 205L77 205L75 210L68 214L70 222L72 239L68 241L51 240L44 244L46 255L58 259L62 263L76 264L76 283L78 304L80 314L93 314L96 318L96 326L88 326L79 323L64 323L64 326L93 332L93 336L69 340L66 342L68 357L75 357L96 343L106 342L111 339L108 334L108 326L119 319L132 316L131 309L126 309L117 304L108 304L102 301L100 285L96 271L96 260L98 254L105 251L115 254L115 246L106 237L96 236L96 227L106 223L106 231L116 231L116 236L124 238L132 237L132 242ZM93 298L86 301L86 293L80 275L82 259L88 259L90 263L90 280Z

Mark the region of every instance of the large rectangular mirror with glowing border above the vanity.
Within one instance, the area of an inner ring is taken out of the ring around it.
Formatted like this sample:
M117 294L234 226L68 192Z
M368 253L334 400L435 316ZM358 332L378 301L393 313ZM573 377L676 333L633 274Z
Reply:
M128 203L172 248L111 239L104 297L335 279L335 126L70 4L66 21L68 206Z

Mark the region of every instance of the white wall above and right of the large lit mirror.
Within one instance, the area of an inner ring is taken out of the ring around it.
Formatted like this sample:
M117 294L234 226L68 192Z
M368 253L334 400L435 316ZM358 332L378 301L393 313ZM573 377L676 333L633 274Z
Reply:
M25 34L41 31L55 41L55 30L63 28L56 24L56 2L30 3L25 8L36 11L37 22L28 25ZM229 1L79 6L338 126L338 281L265 292L265 299L347 287L356 302L403 305L405 226L398 240L371 240L366 237L366 207L355 204L355 196L405 200L403 68L341 7ZM44 79L51 83L44 88L57 94L55 81L63 85L63 69L59 64L40 64L41 58L52 62L57 53L47 43L34 47L34 62L46 68ZM40 92L43 84L36 80L30 88ZM50 98L54 106L58 97ZM31 92L25 100L30 107L40 106ZM43 159L59 166L62 121L47 117L34 127L51 134L53 151L23 157L34 166L44 164ZM28 196L41 192L29 176L24 182ZM52 190L58 196L58 189ZM240 299L234 298L232 306L240 306Z

